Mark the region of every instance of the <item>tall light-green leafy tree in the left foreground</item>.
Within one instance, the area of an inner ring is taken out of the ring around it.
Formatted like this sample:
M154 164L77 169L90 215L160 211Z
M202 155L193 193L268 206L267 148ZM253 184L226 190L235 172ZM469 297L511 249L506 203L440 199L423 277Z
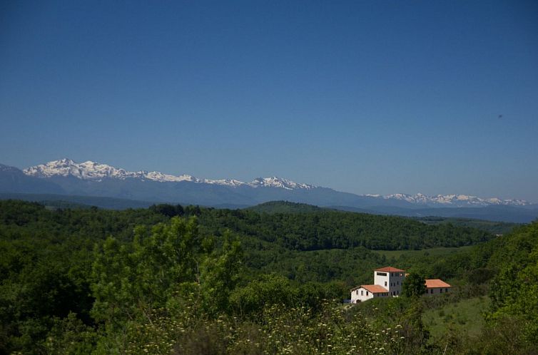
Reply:
M119 324L163 307L181 284L199 279L198 244L196 218L173 217L151 233L136 227L132 244L109 237L93 262L93 317Z

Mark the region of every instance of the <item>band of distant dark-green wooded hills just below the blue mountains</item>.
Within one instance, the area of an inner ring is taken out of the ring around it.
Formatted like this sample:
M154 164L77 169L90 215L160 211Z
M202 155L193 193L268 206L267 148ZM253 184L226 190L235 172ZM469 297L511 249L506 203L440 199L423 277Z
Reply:
M424 225L402 217L320 210L311 213L260 213L215 210L198 206L154 205L137 210L47 210L33 202L0 201L3 225L25 225L43 233L80 235L86 239L106 234L128 238L135 225L153 225L173 216L197 216L201 232L223 235L230 230L246 240L270 242L290 250L425 249L460 247L492 239L488 232L448 224ZM258 244L259 245L259 244Z

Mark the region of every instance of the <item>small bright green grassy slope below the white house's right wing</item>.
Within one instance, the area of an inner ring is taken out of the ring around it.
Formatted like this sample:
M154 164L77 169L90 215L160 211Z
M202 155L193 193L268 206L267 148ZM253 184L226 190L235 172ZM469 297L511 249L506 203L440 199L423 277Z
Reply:
M487 307L489 298L486 296L463 299L440 309L427 310L422 316L422 321L430 330L432 340L445 334L447 329L452 329L457 334L477 336L484 326L482 314Z

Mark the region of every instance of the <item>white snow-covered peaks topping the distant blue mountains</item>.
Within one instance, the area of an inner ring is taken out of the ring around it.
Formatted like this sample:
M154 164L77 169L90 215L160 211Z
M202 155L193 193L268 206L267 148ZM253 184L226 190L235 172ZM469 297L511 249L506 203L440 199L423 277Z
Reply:
M275 187L283 190L315 190L324 189L315 185L308 185L291 180L270 177L255 178L251 182L242 182L233 179L210 180L195 178L192 175L170 175L157 171L128 171L115 168L111 165L86 161L76 163L71 159L54 160L49 163L36 165L23 170L27 176L35 178L74 177L80 180L100 182L106 179L115 180L141 180L153 182L195 182L197 184L220 185L225 187ZM325 189L330 190L330 189ZM524 200L501 200L497 197L481 198L470 195L407 195L402 193L392 195L359 195L372 200L402 201L412 205L429 207L485 207L490 205L525 206L529 202Z

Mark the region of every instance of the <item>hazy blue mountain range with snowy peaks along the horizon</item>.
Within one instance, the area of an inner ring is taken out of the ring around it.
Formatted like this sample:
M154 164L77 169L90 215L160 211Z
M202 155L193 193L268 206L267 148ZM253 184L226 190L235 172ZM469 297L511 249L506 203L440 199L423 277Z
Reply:
M214 207L247 207L272 200L288 200L395 215L448 214L448 217L460 217L458 214L465 214L462 217L470 217L479 212L486 218L490 214L488 211L492 211L494 218L491 219L514 222L528 222L538 216L538 205L524 200L456 194L355 195L278 177L255 178L251 182L210 180L156 171L132 172L93 161L76 163L70 159L54 160L24 170L0 164L0 192L115 197ZM514 218L514 215L522 217Z

